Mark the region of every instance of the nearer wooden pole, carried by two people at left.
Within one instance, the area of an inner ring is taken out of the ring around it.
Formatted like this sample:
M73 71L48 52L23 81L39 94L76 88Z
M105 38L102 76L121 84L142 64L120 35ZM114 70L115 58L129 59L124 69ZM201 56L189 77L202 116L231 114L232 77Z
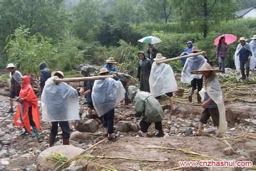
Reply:
M87 80L102 80L105 78L114 78L113 75L104 75L104 76L88 76L80 78L66 78L66 79L55 79L54 83L70 83L70 82L84 82Z

